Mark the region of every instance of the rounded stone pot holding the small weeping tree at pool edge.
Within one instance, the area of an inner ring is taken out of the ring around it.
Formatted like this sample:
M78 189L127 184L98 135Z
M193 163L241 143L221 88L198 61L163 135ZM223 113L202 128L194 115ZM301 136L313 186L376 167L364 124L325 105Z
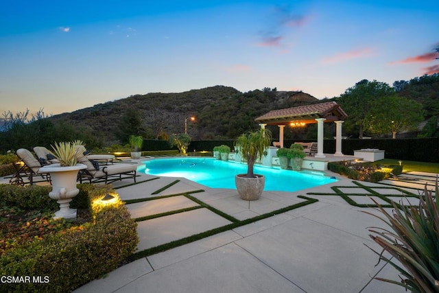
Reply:
M265 176L254 174L255 177L248 178L246 174L235 176L235 185L239 196L243 200L257 200L265 187Z

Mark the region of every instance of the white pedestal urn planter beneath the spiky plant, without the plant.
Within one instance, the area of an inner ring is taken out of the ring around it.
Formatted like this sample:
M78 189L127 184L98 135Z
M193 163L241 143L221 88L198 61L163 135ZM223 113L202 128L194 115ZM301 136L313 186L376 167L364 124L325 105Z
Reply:
M50 174L52 191L49 192L49 197L60 204L60 210L55 213L54 219L76 218L76 209L70 209L70 202L80 192L76 188L78 172L80 169L86 169L86 167L84 164L67 167L61 167L60 164L52 164L41 167L41 172Z

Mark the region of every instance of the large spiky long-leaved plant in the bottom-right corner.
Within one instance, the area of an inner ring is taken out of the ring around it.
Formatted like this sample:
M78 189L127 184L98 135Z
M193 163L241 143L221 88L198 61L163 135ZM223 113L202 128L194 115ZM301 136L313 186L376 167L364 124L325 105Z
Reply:
M437 178L435 191L438 196ZM393 202L391 215L374 200L384 217L365 211L392 228L393 231L370 227L370 237L383 248L381 253L374 250L379 259L390 263L401 277L401 281L376 279L401 285L411 292L439 292L439 201L436 196L427 190L426 184L417 207ZM385 257L385 251L399 263Z

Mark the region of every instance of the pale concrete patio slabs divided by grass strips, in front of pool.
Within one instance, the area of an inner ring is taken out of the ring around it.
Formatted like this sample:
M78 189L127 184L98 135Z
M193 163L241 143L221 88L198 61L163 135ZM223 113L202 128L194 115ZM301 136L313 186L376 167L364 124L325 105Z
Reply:
M185 178L141 174L137 185L115 182L122 200L144 200L127 204L132 218L181 211L139 221L138 251L230 224L230 218L215 211L241 221L307 198L318 201L137 259L74 292L405 292L373 279L399 280L394 268L378 263L367 247L381 251L367 228L385 227L383 222L361 212L375 210L355 207L334 190L369 204L372 191L397 201L401 190L418 194L418 185L357 185L327 173L339 180L298 192L264 191L254 202L239 199L233 189L211 189Z

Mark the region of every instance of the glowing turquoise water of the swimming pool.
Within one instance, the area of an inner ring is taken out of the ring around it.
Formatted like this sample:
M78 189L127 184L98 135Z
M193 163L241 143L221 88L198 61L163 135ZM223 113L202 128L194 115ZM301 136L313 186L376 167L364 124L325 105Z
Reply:
M247 165L213 158L174 158L145 161L139 172L156 176L184 177L211 188L236 189L235 175L247 173ZM265 191L298 191L337 179L320 172L294 172L279 168L254 166L255 174L265 176Z

